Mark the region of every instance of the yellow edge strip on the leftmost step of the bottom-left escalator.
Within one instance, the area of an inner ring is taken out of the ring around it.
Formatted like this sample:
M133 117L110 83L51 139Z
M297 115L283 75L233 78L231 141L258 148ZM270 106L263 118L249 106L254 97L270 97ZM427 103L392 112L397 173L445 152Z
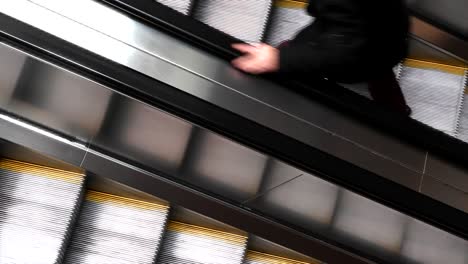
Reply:
M0 169L16 173L33 174L36 176L62 180L74 184L81 183L85 176L82 173L70 172L10 159L0 159Z

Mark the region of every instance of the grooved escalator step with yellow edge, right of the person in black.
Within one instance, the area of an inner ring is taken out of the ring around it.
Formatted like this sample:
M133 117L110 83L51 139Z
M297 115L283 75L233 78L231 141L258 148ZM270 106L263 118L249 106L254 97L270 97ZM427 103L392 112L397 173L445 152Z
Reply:
M464 69L406 60L400 85L412 117L454 136L464 97Z

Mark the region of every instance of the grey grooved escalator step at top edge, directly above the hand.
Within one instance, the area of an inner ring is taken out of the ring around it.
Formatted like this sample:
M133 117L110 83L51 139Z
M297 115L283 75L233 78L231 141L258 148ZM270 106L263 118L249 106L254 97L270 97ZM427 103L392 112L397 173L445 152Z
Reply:
M194 16L246 42L262 40L271 0L199 0Z

